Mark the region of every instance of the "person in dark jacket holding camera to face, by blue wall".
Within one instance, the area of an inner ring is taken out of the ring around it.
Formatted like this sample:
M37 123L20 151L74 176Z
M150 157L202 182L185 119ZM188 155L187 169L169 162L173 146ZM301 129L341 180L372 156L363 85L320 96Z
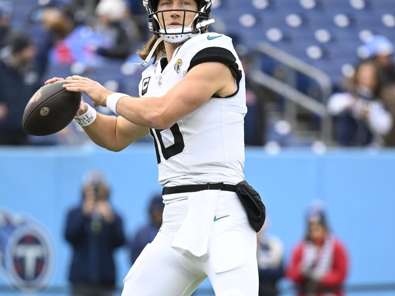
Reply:
M110 296L114 292L114 252L125 238L109 195L103 176L93 172L83 185L81 204L67 215L65 236L73 248L69 273L73 296Z

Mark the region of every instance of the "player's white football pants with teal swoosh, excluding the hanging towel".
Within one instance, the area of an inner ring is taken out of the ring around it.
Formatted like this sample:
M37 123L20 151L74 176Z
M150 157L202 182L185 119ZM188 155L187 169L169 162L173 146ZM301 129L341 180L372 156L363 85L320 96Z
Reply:
M170 247L187 211L187 199L165 205L162 227L127 273L122 296L190 296L207 276L216 296L257 296L256 233L236 193L219 192L201 257Z

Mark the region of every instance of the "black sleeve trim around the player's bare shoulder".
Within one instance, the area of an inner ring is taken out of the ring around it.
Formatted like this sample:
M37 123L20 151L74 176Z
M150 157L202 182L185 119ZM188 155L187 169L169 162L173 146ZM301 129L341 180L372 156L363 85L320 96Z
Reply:
M234 94L227 96L226 98L230 98L236 95L238 92L239 83L242 74L241 74L241 70L238 69L238 65L236 63L236 57L233 55L233 53L230 50L223 47L206 47L200 50L199 52L197 52L197 54L192 58L188 71L190 71L192 68L194 68L199 64L207 63L207 62L218 62L225 64L229 67L229 70L231 70L233 76L236 79L237 90ZM213 97L219 98L219 96L217 95L213 95Z

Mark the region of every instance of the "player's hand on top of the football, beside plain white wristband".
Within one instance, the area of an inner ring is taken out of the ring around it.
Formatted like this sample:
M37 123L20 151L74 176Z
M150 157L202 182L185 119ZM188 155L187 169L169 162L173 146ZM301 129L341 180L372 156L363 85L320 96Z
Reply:
M68 91L85 93L89 98L92 99L95 107L106 107L107 97L113 93L99 82L87 77L81 77L79 75L67 77L66 83L63 84L63 87Z

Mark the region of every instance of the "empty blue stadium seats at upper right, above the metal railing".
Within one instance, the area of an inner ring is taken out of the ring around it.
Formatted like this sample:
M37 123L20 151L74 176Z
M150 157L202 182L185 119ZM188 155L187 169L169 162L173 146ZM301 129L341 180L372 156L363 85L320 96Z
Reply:
M242 2L222 0L214 10L215 17L226 25L226 34L237 36L250 50L260 41L270 42L325 71L334 83L342 78L342 66L360 58L361 31L395 39L392 0ZM309 46L321 48L322 56L309 57Z

